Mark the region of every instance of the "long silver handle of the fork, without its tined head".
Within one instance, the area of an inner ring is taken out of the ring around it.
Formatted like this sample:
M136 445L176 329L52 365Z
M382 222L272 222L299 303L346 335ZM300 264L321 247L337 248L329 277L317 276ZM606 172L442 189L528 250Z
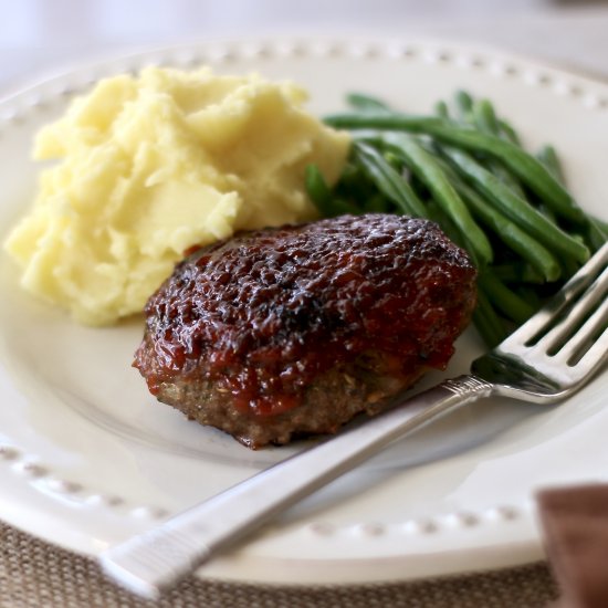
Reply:
M214 553L326 485L385 445L469 401L492 394L476 376L445 380L363 424L295 454L233 488L111 547L102 567L144 597L191 573Z

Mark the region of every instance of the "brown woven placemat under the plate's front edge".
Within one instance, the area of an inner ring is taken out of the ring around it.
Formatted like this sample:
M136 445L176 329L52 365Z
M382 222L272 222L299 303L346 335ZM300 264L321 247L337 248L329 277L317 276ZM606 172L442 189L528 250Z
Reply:
M1 608L538 608L557 595L544 564L438 580L270 587L185 580L159 601L108 583L93 559L0 524Z

